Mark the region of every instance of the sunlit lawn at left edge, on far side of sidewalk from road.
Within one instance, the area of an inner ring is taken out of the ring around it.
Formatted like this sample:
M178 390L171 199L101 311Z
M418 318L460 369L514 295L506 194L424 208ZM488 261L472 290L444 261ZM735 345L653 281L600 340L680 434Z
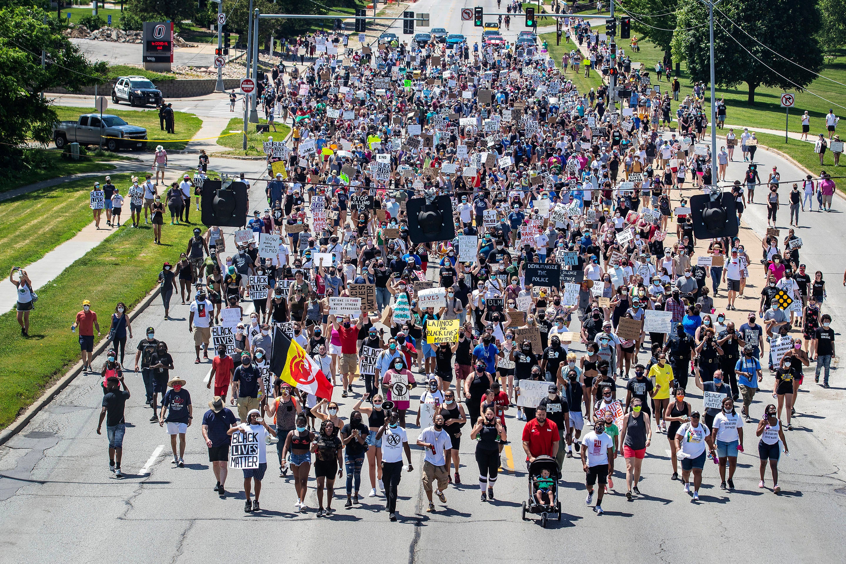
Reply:
M146 168L137 174L142 175ZM112 182L126 196L131 183L131 174L113 174ZM8 272L12 266L27 266L47 255L52 249L74 238L92 221L89 207L91 188L95 181L105 183L103 178L84 178L58 184L0 201L0 272ZM129 218L129 205L122 219ZM102 227L106 227L105 215Z

